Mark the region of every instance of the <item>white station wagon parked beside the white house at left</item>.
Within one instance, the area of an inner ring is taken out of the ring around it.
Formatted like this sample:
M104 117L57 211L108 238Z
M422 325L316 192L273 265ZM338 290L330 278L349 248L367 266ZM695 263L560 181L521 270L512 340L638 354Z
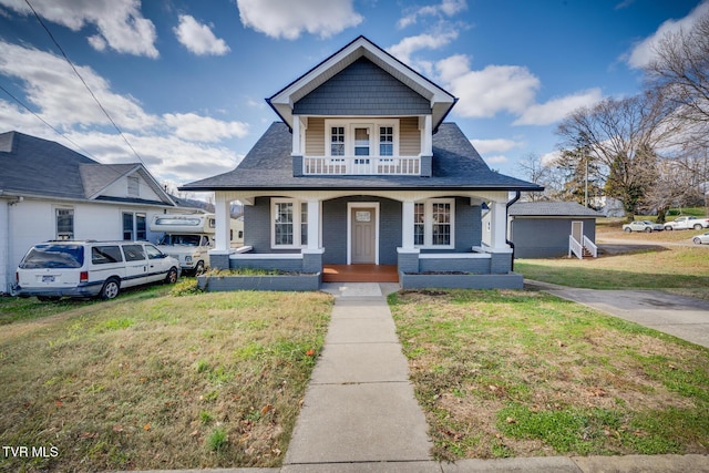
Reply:
M48 241L34 245L16 273L14 296L113 299L121 288L176 282L179 261L144 241Z

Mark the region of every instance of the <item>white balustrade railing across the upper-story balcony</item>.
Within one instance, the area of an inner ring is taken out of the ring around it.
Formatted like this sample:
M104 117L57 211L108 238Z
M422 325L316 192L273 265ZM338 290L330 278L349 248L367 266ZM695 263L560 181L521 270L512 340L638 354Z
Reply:
M421 174L419 157L305 156L302 173L308 175L402 175Z

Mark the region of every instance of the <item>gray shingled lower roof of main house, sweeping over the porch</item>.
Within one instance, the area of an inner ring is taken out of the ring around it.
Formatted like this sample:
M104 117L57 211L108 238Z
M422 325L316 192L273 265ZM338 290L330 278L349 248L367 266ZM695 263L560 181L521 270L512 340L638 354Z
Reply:
M455 123L443 123L433 135L433 175L301 176L292 174L291 134L275 122L233 171L186 184L183 191L265 189L485 189L542 191L536 184L493 172Z

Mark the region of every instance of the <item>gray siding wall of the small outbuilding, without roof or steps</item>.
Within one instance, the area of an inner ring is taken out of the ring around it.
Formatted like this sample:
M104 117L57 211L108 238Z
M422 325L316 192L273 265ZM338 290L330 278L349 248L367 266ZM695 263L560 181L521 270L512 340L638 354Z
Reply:
M596 240L595 218L521 218L512 220L515 258L554 258L568 255L572 222L584 223L584 235Z

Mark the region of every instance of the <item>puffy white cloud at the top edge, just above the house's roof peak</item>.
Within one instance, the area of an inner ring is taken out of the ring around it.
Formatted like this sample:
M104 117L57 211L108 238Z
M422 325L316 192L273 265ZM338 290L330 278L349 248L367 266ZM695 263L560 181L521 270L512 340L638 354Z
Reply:
M329 38L356 27L363 18L352 0L237 0L244 27L271 38L296 40L302 32Z

